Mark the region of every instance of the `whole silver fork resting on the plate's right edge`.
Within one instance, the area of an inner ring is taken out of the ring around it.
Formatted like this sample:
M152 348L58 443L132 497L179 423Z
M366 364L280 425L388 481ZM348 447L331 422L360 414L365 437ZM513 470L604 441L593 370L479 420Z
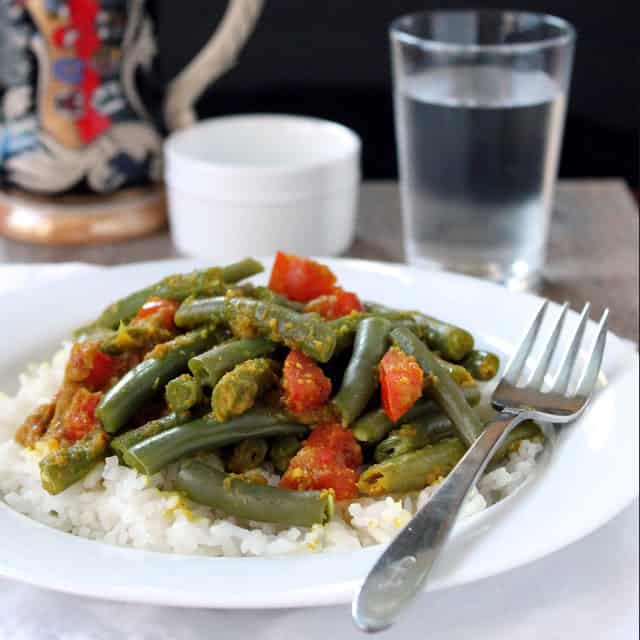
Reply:
M429 502L387 547L358 590L353 600L352 615L363 631L386 629L413 600L427 579L464 499L509 432L529 419L556 424L571 422L587 406L602 363L609 310L600 319L590 356L575 390L569 392L569 382L589 318L589 303L582 310L578 327L551 387L543 391L562 333L568 307L566 303L558 314L533 373L525 384L520 382L547 306L545 302L540 307L493 393L491 402L500 413L487 425Z

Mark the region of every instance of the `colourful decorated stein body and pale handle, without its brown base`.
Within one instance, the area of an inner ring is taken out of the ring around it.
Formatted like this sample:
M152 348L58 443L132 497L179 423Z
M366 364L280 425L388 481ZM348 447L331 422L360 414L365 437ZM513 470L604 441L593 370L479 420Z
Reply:
M193 102L233 63L261 6L230 0L167 88L168 130L194 121ZM0 184L50 196L158 180L162 137L136 86L155 50L145 0L0 0Z

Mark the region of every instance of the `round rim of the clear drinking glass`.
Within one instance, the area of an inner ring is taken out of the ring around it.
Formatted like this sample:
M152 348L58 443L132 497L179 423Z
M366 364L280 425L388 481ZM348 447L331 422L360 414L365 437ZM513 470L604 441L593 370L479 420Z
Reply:
M460 15L460 14L493 14L493 15L511 15L537 18L543 24L552 25L562 31L556 36L542 38L540 40L532 40L531 42L513 42L513 43L495 43L495 44L464 44L457 42L445 42L443 40L432 40L421 36L408 33L406 28L401 26L401 22L408 18L418 18L423 16L435 15ZM427 11L415 11L405 13L404 15L394 18L389 25L389 35L392 39L404 44L411 44L430 51L446 51L449 53L527 53L547 49L551 47L560 47L571 44L576 39L576 30L573 25L564 18L551 15L549 13L537 13L535 11L509 11L503 9L433 9Z

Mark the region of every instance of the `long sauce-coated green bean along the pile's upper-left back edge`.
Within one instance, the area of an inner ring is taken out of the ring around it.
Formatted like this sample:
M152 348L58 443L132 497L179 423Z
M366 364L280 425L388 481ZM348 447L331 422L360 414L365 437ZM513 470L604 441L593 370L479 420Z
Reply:
M226 267L211 267L191 273L168 276L156 284L145 287L110 304L90 325L78 329L76 334L86 333L95 328L116 329L118 325L132 318L140 307L151 297L184 300L191 295L223 295L227 285L263 271L263 266L247 258Z

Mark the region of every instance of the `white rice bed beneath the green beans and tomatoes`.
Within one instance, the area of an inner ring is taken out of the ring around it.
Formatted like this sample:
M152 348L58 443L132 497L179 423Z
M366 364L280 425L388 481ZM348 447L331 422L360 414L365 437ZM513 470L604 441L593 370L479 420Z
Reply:
M182 554L270 556L303 551L349 551L389 541L435 491L428 487L403 499L366 498L337 513L328 524L282 527L241 522L210 509L187 504L161 490L170 484L169 469L147 478L118 464L114 457L84 480L51 496L40 485L38 454L24 449L13 434L25 416L48 401L62 382L69 345L51 363L20 376L14 397L0 393L0 496L16 511L69 533L132 546ZM512 493L534 471L542 445L525 441L504 466L486 474L463 507L469 516ZM212 458L215 460L215 457ZM270 483L277 476L261 472Z

